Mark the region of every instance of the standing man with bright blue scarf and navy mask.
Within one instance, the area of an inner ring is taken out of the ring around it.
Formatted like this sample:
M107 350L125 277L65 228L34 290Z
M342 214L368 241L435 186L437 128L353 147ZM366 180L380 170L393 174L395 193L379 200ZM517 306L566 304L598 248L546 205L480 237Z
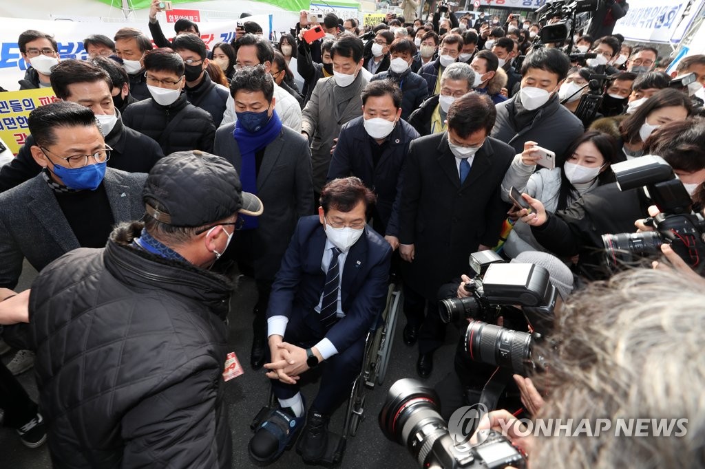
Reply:
M311 151L299 132L282 125L274 106L274 79L262 65L235 71L231 82L238 120L216 132L214 153L238 170L243 188L257 194L266 212L245 217L226 258L235 256L240 272L254 276L255 304L250 363L262 368L266 351L266 310L271 284L296 227L314 209Z

